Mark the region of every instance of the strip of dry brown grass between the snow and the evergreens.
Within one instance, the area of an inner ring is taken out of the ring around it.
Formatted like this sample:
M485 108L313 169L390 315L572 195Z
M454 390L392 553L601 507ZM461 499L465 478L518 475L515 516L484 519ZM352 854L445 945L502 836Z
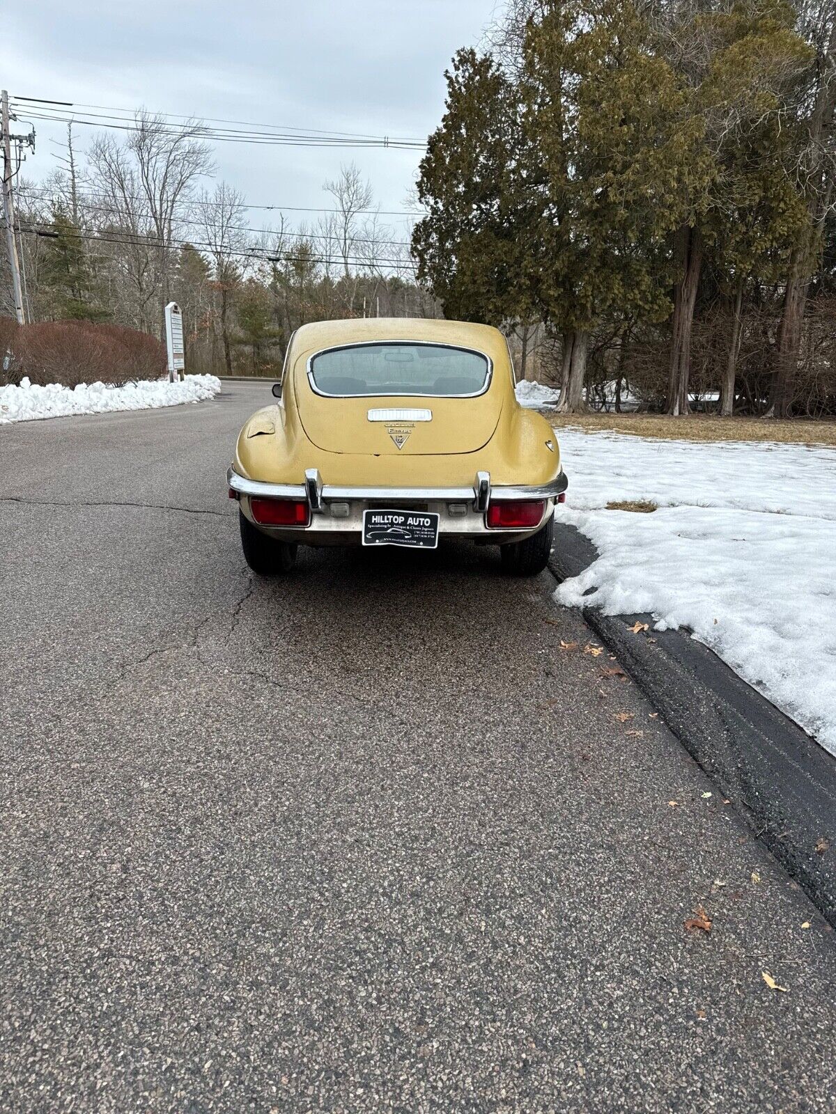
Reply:
M546 413L555 429L575 428L589 433L611 430L668 441L778 441L786 444L825 444L836 448L836 420L791 418L718 418L690 414Z

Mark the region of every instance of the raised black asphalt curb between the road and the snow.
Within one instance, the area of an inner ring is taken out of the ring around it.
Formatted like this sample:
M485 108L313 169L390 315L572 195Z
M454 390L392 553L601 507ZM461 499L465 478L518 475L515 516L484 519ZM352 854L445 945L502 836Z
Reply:
M558 580L596 556L574 527L555 529L550 567ZM688 632L653 631L649 615L585 607L583 616L836 928L836 759ZM636 619L650 631L633 634Z

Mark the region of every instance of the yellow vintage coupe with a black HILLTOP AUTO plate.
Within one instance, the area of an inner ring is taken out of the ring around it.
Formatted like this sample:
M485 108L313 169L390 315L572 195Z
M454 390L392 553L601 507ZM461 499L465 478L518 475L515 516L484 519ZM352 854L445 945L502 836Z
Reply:
M566 476L554 431L514 393L488 325L362 319L291 338L278 403L239 436L227 472L253 571L298 545L498 545L503 567L545 568Z

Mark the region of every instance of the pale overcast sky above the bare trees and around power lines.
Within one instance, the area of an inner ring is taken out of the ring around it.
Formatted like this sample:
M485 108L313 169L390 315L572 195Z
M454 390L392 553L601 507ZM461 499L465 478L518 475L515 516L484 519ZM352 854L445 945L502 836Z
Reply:
M425 138L443 110L445 67L458 47L479 40L496 8L497 0L35 0L6 6L0 80L12 96L77 105ZM37 149L23 173L40 179L57 166L61 152L50 139L64 140L65 128L35 124ZM85 146L93 130L77 135ZM217 176L249 202L294 206L328 205L323 179L353 158L380 207L401 209L419 157L215 148Z

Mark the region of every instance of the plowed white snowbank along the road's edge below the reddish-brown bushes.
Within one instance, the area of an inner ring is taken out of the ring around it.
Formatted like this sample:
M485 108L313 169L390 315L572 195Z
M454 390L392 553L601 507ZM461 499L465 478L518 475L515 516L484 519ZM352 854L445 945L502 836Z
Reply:
M215 375L186 375L169 383L139 380L125 387L80 383L76 388L49 383L38 387L22 379L20 385L0 387L0 424L33 421L37 418L65 418L68 414L98 414L111 410L148 410L174 407L181 402L202 402L221 390Z

